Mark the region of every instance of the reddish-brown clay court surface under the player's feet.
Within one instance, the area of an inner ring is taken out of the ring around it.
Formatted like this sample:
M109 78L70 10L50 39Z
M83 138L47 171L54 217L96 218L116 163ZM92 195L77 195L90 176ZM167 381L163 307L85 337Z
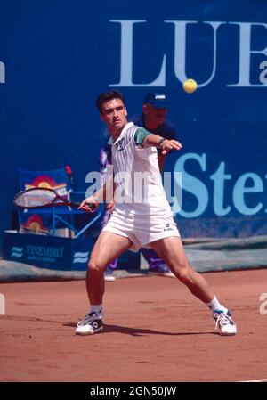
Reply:
M182 283L132 277L106 283L105 328L76 336L84 281L3 283L2 382L267 380L267 269L205 273L232 310L238 335L222 337Z

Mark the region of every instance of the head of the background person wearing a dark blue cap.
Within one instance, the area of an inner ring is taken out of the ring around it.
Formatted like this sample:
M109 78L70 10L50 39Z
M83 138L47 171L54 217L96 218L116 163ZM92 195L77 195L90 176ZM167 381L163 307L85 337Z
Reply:
M156 128L162 125L166 119L167 100L164 93L148 93L145 96L142 111L146 125Z

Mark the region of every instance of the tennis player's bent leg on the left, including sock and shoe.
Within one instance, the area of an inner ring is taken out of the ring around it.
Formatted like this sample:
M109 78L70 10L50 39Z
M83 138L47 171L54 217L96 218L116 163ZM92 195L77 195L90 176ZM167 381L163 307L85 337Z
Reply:
M125 236L107 231L101 232L93 247L86 273L86 290L91 312L85 315L83 321L77 323L77 334L90 335L101 331L102 300L105 291L104 271L114 258L119 257L132 245L133 242Z

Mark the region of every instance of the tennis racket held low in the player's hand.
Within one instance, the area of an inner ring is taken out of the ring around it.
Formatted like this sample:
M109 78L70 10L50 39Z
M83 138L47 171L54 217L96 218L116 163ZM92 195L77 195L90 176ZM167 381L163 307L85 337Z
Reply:
M78 208L80 203L77 201L66 201L61 196L53 191L44 187L34 187L26 189L18 193L13 200L13 203L20 208L44 208L54 206L69 206L71 208ZM94 211L97 208L96 204L90 204L89 208Z

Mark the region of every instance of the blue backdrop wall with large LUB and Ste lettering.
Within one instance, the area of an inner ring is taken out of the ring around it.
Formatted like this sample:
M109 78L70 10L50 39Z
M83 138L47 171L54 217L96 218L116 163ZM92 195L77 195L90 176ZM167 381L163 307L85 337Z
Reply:
M0 0L0 228L19 167L69 164L86 189L104 133L94 101L116 88L130 116L148 91L169 96L183 236L267 233L266 15L262 0Z

